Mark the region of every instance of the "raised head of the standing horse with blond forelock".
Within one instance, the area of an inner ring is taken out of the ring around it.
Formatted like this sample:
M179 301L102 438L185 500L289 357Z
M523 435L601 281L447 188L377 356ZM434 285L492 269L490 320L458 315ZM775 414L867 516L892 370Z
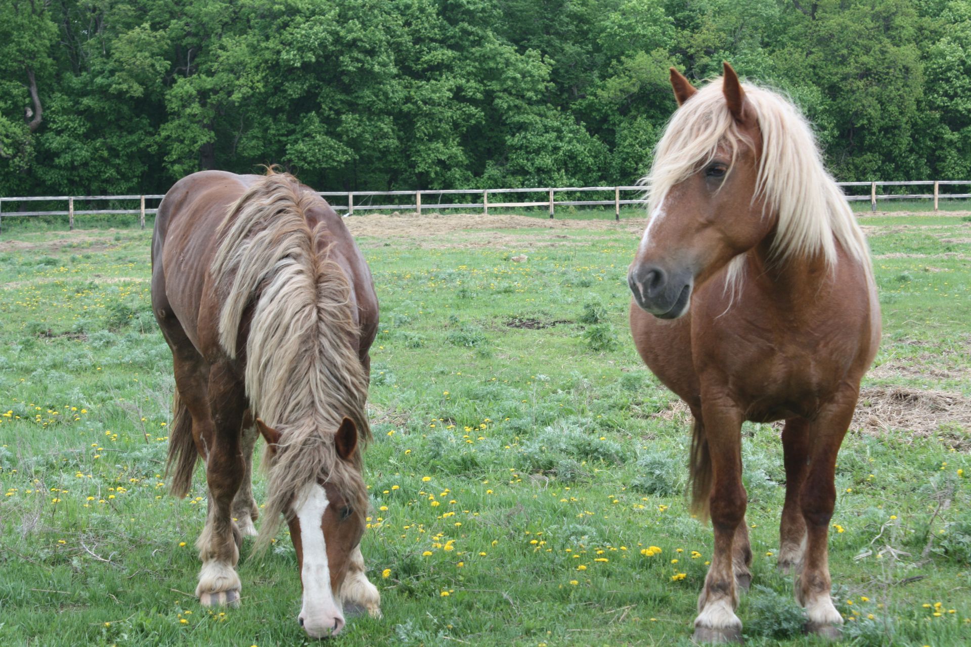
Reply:
M671 68L681 106L657 146L650 216L627 274L634 301L663 319L687 312L691 291L771 231L759 197L761 133L738 77L697 90Z

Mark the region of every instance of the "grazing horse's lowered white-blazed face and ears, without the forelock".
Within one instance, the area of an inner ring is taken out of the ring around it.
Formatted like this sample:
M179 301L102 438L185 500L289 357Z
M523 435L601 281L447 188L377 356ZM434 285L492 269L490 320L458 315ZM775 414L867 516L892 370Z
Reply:
M262 420L256 424L272 454L280 433ZM351 464L356 447L357 428L350 418L344 418L334 435L337 459ZM366 510L361 506L359 499L352 500L332 480L318 478L297 491L285 511L303 586L297 622L312 638L337 635L344 629L339 593L352 551L364 534Z

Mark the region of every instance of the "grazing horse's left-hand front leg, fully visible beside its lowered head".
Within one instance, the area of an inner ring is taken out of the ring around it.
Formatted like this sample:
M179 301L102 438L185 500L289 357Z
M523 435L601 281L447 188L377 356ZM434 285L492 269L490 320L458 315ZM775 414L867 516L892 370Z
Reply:
M240 452L240 426L246 409L243 387L227 367L210 371L209 402L213 443L206 461L209 514L196 541L202 569L195 595L204 606L239 604L242 585L235 566L242 535L232 519L232 504L246 470Z

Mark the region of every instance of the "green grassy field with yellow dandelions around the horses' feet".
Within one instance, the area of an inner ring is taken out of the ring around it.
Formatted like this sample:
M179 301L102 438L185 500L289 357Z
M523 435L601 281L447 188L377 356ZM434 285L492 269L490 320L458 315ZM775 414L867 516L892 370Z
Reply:
M682 496L684 409L626 329L638 223L602 216L350 220L382 304L363 551L385 617L339 644L690 644L711 530ZM862 222L885 339L838 465L834 595L853 644L969 644L971 219ZM302 644L285 532L244 546L241 608L190 595L206 491L200 471L176 501L161 478L150 237L5 222L0 644ZM775 568L778 429L743 442L748 643L818 644Z

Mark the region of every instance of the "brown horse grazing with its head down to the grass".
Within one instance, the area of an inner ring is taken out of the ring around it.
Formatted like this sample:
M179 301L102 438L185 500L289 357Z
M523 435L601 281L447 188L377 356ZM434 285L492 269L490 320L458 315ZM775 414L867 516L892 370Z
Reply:
M162 200L151 263L152 307L176 377L173 494L185 496L197 458L206 462L199 601L239 603L234 567L243 534L256 534L250 476L258 430L269 485L257 546L283 514L303 585L300 625L312 637L335 635L345 603L379 615L359 547L378 301L340 216L273 170L196 173Z

